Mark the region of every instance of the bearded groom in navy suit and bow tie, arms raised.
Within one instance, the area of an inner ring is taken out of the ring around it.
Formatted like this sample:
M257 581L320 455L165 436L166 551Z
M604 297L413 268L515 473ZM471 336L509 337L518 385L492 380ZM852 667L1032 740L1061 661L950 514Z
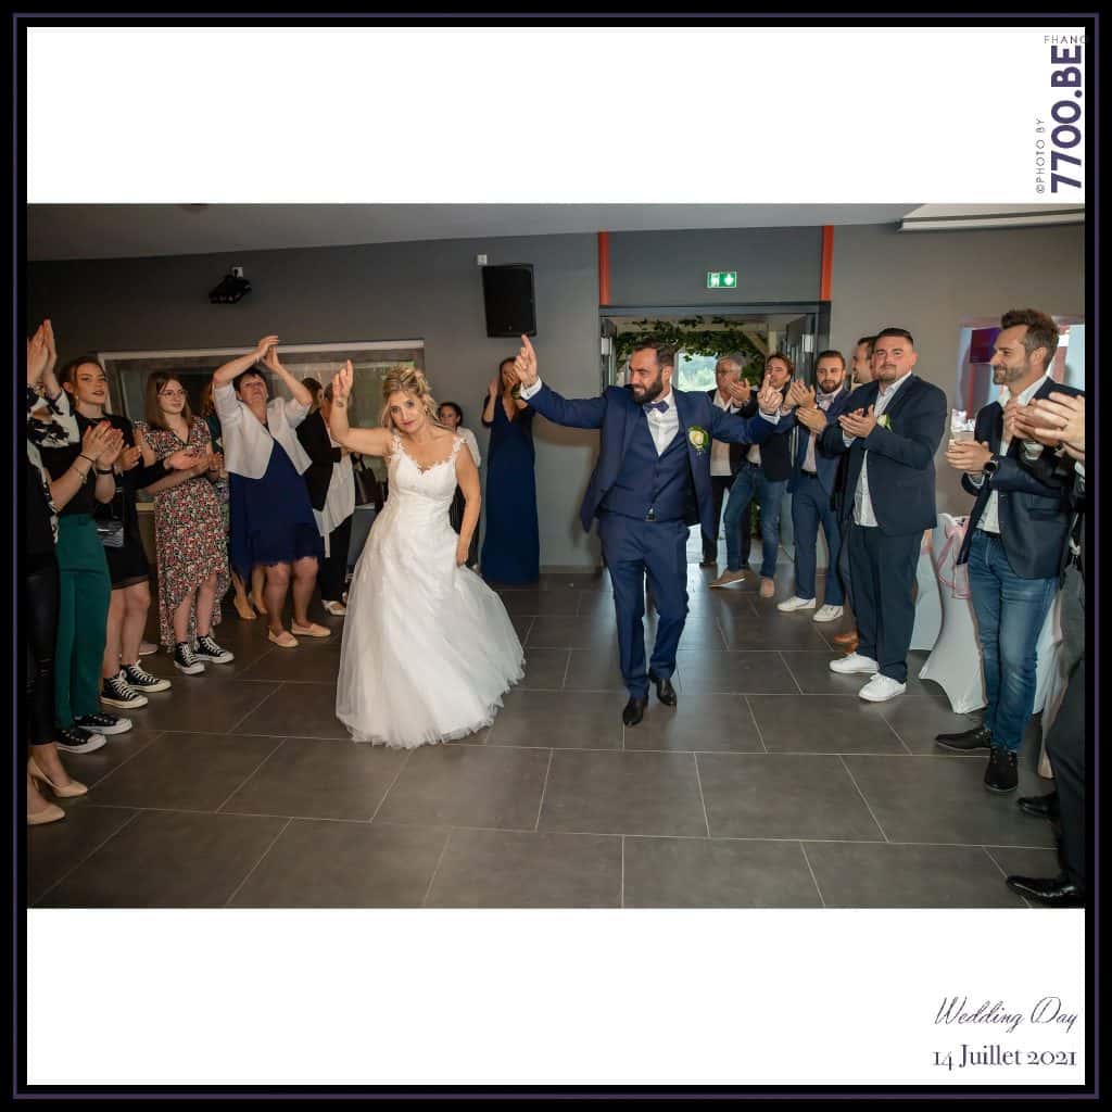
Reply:
M687 617L687 526L712 532L711 440L761 444L776 429L778 390L757 395L759 416L745 420L714 406L705 394L672 388L675 349L646 344L629 358L629 386L608 387L602 397L569 400L545 386L537 355L523 336L514 370L522 398L556 425L603 430L598 463L583 499L580 519L590 530L598 518L603 555L614 584L622 676L629 702L622 713L636 726L657 697L676 705L672 674ZM645 668L645 573L659 624L653 658Z

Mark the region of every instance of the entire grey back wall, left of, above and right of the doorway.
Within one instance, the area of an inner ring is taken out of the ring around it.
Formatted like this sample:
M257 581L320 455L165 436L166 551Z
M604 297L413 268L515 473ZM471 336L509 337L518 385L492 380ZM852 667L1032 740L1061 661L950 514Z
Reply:
M246 346L269 331L288 342L424 339L438 398L451 397L486 447L478 405L513 340L487 339L476 254L532 262L536 347L545 378L569 396L598 391L598 265L594 236L441 240L227 256L40 262L28 267L29 321L49 316L67 358L79 351ZM610 302L698 306L811 301L818 296L818 228L757 228L610 236ZM232 264L254 290L211 306L207 291ZM834 232L834 346L902 325L915 336L917 371L953 394L963 318L1015 306L1084 312L1080 226L1003 231L897 232L838 226ZM707 270L737 270L736 295L705 288ZM30 330L29 328L29 330ZM540 560L594 566L578 505L597 434L536 423ZM940 508L969 498L939 466Z

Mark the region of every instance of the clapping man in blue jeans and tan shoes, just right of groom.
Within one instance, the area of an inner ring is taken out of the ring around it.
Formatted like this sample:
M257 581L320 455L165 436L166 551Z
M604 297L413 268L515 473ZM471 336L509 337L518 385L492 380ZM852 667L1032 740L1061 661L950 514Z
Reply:
M795 367L786 355L772 355L765 363L764 386L778 390L786 399ZM741 409L741 416L753 418L756 401ZM783 409L781 410L783 414ZM761 597L772 598L776 592L776 556L780 552L780 507L784 502L787 480L792 477L792 437L794 421L781 420L776 431L757 447L754 445L729 488L724 517L726 529L726 570L711 583L712 587L728 587L745 578L742 559L742 520L754 496L761 507Z

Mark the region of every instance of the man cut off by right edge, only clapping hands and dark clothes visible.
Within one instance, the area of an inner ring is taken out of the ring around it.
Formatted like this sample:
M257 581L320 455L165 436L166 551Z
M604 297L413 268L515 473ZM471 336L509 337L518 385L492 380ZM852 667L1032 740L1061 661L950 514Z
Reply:
M1032 423L1025 417L1030 415ZM1036 424L1037 423L1037 424ZM1048 424L1049 423L1049 424ZM1055 391L1035 400L1015 421L1021 436L1062 450L1020 464L1042 481L1062 480L1070 493L1073 520L1062 549L1062 657L1069 683L1058 717L1046 734L1046 755L1055 791L1015 802L1029 815L1058 822L1061 872L1056 876L1009 876L1007 886L1027 900L1052 907L1081 907L1089 891L1089 816L1085 701L1089 665L1085 653L1085 396Z

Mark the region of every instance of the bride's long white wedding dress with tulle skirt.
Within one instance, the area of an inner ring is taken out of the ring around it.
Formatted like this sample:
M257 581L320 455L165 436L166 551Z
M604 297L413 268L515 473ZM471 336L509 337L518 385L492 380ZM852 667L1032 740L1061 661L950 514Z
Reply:
M456 565L451 455L421 470L395 434L389 496L348 590L336 717L357 742L416 748L489 726L524 674L502 599Z

